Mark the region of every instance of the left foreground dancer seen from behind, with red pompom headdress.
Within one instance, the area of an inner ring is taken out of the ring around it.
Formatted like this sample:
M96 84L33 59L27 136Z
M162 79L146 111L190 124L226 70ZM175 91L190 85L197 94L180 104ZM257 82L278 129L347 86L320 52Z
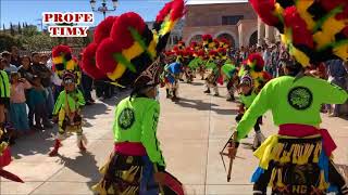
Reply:
M84 52L83 68L92 78L109 78L133 90L115 108L114 151L101 169L103 178L94 186L98 194L184 194L182 184L165 172L157 139L160 104L156 100L164 65L159 56L184 13L183 0L166 3L152 30L134 12L107 18L95 31L100 39Z

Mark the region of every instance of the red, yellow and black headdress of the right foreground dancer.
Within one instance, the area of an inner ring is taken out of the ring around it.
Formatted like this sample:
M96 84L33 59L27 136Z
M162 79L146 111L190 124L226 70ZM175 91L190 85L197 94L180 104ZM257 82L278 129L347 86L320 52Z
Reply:
M347 0L250 0L261 20L275 26L302 66L348 61Z

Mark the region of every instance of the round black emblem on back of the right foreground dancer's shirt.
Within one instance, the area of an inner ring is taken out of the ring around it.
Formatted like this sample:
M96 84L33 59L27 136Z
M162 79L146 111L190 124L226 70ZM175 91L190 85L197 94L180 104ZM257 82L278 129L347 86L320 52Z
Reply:
M296 87L287 94L287 101L295 109L307 109L312 105L313 94L308 88Z

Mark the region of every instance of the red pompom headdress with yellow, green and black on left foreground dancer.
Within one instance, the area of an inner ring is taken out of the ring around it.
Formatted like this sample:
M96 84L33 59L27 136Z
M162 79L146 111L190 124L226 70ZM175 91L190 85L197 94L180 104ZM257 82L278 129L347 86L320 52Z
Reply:
M164 50L184 10L183 0L166 3L152 30L134 12L105 18L95 30L95 42L85 49L83 68L96 79L109 78L121 86L132 84Z

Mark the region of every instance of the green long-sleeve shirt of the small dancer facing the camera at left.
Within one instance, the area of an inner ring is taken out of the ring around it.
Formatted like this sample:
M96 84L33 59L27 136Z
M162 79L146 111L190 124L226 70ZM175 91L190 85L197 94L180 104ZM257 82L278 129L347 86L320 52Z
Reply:
M66 106L66 91L62 91L55 102L54 108L53 108L53 115L57 115L61 108L65 108ZM83 93L76 89L73 92L67 93L67 103L69 103L69 108L70 112L74 113L76 112L80 106L85 105L85 99Z

